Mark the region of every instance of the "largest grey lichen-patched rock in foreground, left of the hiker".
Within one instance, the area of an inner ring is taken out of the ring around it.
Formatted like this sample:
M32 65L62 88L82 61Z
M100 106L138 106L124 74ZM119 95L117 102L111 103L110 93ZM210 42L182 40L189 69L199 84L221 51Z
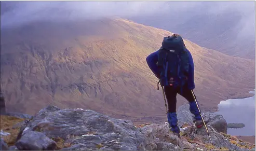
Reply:
M130 120L115 119L89 109L59 109L49 105L36 114L29 129L62 138L82 150L138 150L145 140ZM69 139L70 136L73 136Z

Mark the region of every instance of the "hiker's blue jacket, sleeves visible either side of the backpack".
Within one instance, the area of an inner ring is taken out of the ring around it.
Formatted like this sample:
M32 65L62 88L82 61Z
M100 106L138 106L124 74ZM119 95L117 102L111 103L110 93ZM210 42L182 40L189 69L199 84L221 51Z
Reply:
M187 49L186 49L187 50ZM158 71L158 68L157 68L157 60L158 60L158 51L155 51L153 53L151 53L149 56L147 56L146 58L146 62L147 62L147 65L149 65L151 71L155 74L155 76L159 79L160 77L160 71ZM188 51L188 56L190 57L189 58L189 70L188 70L188 77L187 77L187 86L188 86L188 89L190 90L193 90L195 89L195 82L194 82L194 62L193 62L193 58L192 58L192 55L190 53L190 51Z

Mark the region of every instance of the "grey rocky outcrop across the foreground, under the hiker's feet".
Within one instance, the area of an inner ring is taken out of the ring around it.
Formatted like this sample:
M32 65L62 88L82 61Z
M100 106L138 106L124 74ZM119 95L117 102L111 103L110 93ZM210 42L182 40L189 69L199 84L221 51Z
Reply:
M49 105L25 122L15 146L19 150L245 150L255 145L205 128L186 126L181 138L169 126L150 124L137 128L130 120L115 119L89 109L60 109ZM244 144L242 144L244 143Z

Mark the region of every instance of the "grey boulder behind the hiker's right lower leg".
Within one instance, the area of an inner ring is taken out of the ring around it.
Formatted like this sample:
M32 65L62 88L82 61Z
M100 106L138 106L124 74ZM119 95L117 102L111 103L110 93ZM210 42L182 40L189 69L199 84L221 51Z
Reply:
M209 119L208 125L214 128L217 132L227 133L227 122L222 115L202 111L203 117ZM193 114L190 113L190 106L184 104L178 108L178 126L181 127L184 122L193 125Z

